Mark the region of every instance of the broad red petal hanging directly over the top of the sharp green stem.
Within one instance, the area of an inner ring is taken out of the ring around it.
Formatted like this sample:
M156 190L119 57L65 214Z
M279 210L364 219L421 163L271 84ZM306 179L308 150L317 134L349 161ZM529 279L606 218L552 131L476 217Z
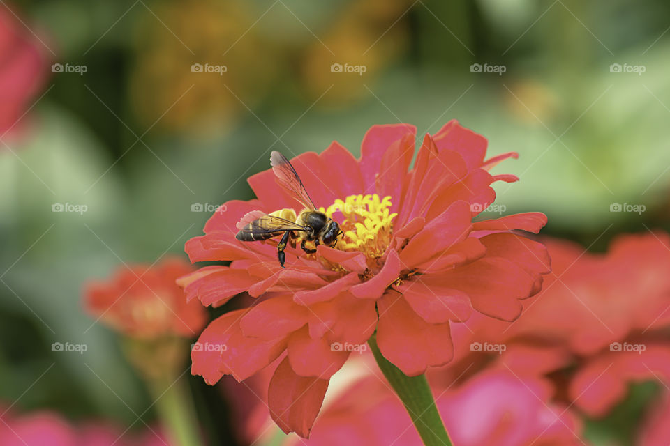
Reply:
M454 357L449 323L429 324L395 291L377 301L377 344L382 355L407 376L423 374L428 366Z

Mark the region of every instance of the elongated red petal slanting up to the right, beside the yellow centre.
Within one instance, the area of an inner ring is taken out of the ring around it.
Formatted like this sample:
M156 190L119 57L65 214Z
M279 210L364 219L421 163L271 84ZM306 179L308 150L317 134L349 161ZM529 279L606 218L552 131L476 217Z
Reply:
M472 228L471 220L470 204L466 201L453 203L412 237L400 253L403 266L412 268L465 240Z

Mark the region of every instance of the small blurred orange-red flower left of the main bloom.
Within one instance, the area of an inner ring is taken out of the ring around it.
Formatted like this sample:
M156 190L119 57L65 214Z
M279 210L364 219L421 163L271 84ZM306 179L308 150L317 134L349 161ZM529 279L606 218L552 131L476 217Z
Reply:
M129 337L193 337L207 322L198 302L186 302L175 283L193 268L177 257L155 266L121 267L106 282L85 286L88 312Z

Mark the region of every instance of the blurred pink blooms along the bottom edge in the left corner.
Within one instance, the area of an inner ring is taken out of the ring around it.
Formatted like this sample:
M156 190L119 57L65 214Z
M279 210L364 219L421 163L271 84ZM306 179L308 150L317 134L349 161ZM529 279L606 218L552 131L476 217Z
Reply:
M104 421L73 426L58 413L4 412L0 416L2 446L165 446L168 440L156 428L142 433L121 431Z

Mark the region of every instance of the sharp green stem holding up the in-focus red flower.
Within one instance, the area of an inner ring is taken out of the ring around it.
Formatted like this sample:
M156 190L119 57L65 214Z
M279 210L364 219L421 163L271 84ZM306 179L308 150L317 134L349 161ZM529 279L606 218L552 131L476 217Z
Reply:
M375 360L412 418L426 446L452 446L425 375L407 376L379 351L377 336L368 339Z

